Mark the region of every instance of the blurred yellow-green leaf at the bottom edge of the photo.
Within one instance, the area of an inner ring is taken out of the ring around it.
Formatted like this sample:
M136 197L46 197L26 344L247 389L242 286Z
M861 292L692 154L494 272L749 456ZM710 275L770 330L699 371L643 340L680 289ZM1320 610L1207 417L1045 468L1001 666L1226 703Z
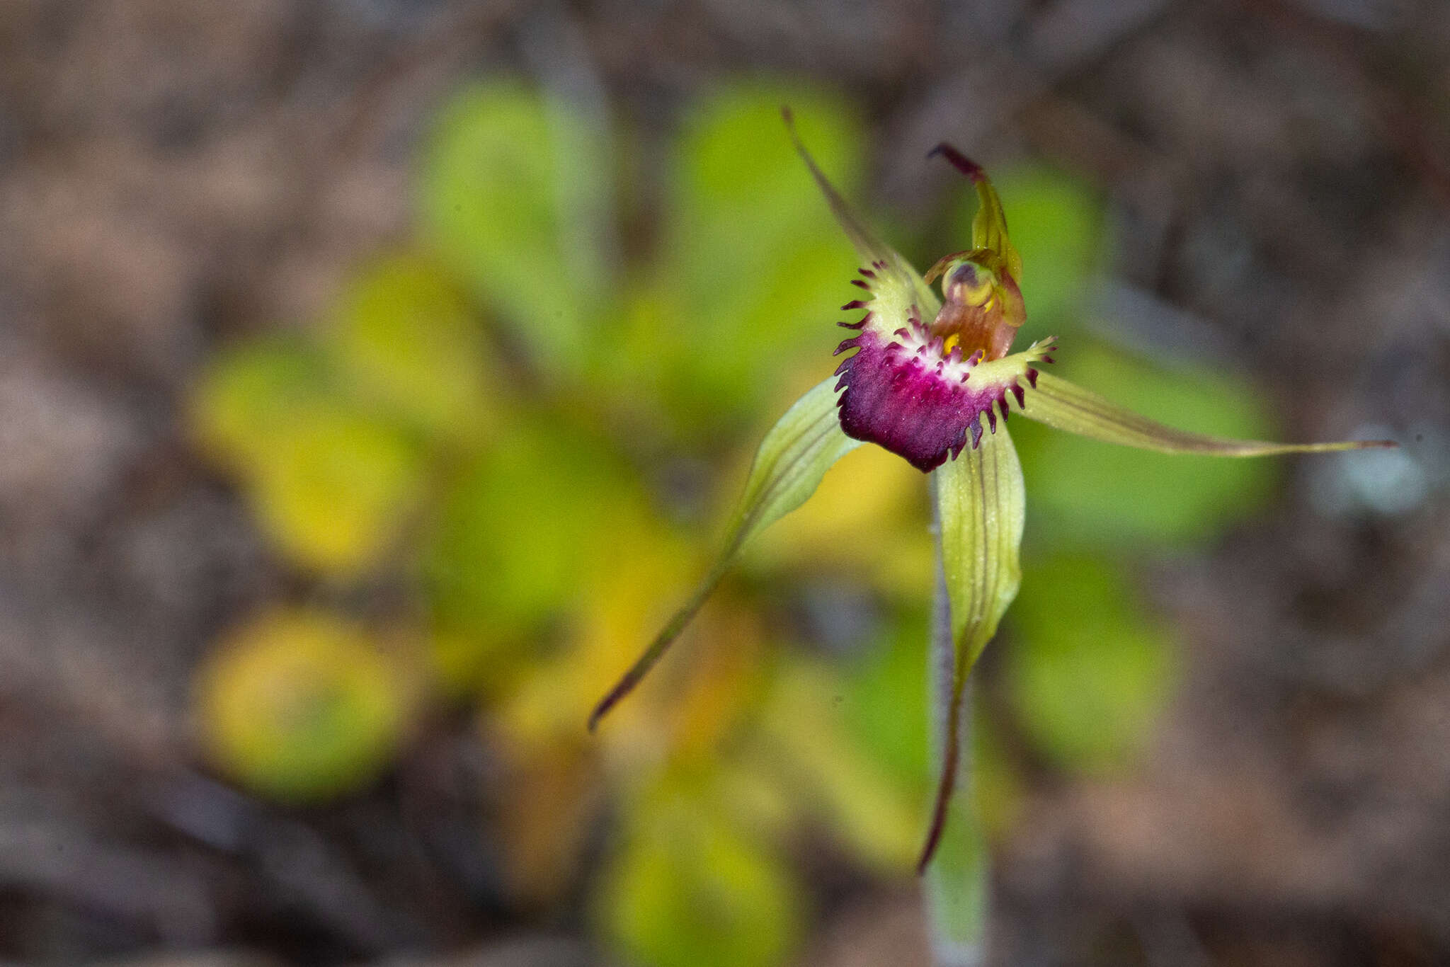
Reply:
M602 884L608 932L650 967L783 964L802 931L786 864L732 828L699 790L668 783Z

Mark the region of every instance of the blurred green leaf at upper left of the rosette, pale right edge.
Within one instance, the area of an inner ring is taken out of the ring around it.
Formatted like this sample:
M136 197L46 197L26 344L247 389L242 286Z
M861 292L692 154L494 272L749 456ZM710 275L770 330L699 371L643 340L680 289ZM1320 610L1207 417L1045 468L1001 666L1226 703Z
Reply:
M423 151L423 236L512 323L545 374L580 371L612 294L608 159L586 119L505 81L454 96Z

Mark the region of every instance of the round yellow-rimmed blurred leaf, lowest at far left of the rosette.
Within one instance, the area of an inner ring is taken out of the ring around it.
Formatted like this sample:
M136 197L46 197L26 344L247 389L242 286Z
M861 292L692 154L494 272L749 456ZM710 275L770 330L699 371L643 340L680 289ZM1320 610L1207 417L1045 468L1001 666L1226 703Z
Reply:
M309 802L373 779L399 742L406 677L358 628L326 612L264 615L200 668L207 750L264 794Z

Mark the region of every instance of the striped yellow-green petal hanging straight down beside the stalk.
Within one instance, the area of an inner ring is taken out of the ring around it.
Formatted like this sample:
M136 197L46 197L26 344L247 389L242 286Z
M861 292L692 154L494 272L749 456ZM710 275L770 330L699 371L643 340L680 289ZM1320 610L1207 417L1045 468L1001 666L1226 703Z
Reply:
M1019 548L1027 490L1006 425L983 435L974 449L963 449L960 457L932 471L932 487L941 567L951 603L954 665L944 713L947 742L941 781L918 871L927 868L937 850L956 787L967 676L1022 584Z

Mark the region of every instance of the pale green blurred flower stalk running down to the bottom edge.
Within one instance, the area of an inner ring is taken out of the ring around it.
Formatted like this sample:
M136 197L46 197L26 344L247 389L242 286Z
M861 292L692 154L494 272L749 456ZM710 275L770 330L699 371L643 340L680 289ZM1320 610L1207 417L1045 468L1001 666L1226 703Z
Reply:
M931 761L941 763L948 745L951 681L956 649L951 605L941 565L941 513L937 477L931 481L932 526L937 539L937 587L932 594L931 647L927 660L927 703L931 715ZM937 855L924 874L927 929L937 967L977 967L986 957L987 850L972 781L972 680L967 678L957 719L957 783ZM940 771L940 770L938 770ZM937 771L932 779L935 780Z

